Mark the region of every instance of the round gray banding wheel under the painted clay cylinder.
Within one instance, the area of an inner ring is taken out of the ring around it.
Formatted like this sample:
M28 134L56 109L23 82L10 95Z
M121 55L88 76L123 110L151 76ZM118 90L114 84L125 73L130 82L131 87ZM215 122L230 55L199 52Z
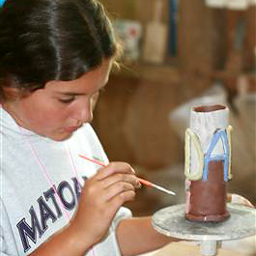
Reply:
M220 223L185 220L185 204L161 209L153 214L152 224L159 233L183 240L200 241L201 254L216 254L217 242L237 240L256 234L256 211L242 205L227 204L230 217Z

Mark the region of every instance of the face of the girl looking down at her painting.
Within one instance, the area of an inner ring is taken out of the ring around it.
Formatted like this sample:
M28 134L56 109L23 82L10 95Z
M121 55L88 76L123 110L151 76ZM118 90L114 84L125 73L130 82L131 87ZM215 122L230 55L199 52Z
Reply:
M94 105L108 81L111 60L72 81L49 81L26 98L3 103L22 128L61 141L93 119Z

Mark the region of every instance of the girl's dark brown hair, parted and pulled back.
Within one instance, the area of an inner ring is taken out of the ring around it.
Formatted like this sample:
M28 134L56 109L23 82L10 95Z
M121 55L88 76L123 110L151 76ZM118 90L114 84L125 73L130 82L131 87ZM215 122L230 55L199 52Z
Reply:
M0 100L49 80L73 80L116 54L112 26L96 0L7 0L0 9Z

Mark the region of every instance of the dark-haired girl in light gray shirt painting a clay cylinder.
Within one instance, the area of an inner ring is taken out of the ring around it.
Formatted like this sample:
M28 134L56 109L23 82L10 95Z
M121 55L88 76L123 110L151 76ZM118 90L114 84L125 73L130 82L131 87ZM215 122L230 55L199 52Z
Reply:
M94 0L3 3L1 255L135 255L170 242L122 207L138 178L108 163L90 126L117 53Z

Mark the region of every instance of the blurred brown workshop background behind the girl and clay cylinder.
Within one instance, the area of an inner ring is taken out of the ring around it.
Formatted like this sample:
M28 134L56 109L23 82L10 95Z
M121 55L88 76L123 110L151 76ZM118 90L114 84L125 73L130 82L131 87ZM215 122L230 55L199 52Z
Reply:
M228 191L256 204L255 0L101 0L124 46L95 110L110 160L176 191L139 189L134 215L185 203L191 106L223 103L233 126Z

